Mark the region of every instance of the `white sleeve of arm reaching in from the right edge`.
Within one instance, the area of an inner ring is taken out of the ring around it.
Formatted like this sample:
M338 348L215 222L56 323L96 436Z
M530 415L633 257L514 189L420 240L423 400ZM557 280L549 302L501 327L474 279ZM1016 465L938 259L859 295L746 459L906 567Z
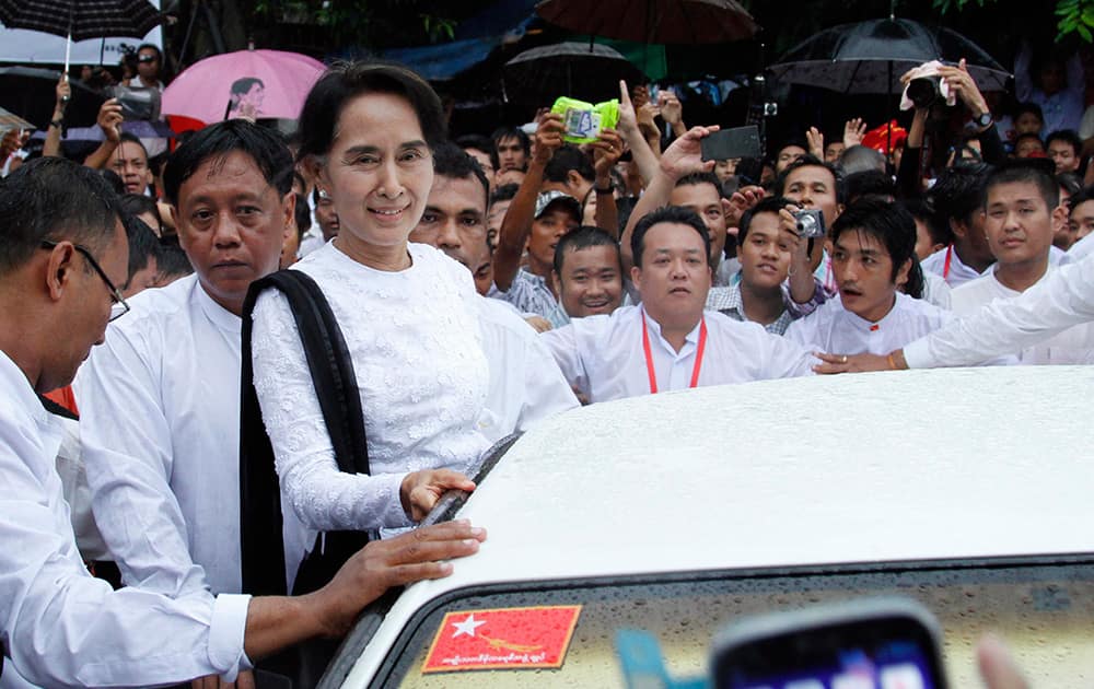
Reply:
M1094 320L1094 259L1063 266L1011 300L994 300L904 348L909 369L968 366Z

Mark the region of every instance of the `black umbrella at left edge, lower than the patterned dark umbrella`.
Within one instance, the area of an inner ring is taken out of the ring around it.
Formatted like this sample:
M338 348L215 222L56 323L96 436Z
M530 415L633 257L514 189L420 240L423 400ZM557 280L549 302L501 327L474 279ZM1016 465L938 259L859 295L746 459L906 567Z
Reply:
M30 120L38 129L45 129L53 118L60 78L61 73L51 69L0 67L0 107ZM105 98L78 79L70 81L69 85L72 95L65 108L66 125L94 125Z

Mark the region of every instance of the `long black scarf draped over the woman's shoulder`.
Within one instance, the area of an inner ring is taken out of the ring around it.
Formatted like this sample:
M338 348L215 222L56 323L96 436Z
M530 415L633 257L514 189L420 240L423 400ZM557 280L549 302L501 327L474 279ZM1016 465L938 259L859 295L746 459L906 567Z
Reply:
M334 445L338 468L369 474L361 396L349 349L322 290L304 272L282 270L252 283L243 303L242 405L240 428L240 517L243 591L253 595L284 595L284 542L281 491L274 449L254 386L252 366L253 313L258 295L280 290L289 300L304 347L315 393ZM330 581L349 556L368 542L368 534L330 532L319 535L301 563L293 593L307 593Z

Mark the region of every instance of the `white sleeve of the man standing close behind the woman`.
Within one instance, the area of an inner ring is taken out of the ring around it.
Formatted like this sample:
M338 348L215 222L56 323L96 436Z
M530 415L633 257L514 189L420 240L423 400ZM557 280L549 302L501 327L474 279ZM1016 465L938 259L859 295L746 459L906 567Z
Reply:
M205 588L171 490L171 428L159 367L129 330L107 329L80 367L82 452L95 522L123 579L168 596Z

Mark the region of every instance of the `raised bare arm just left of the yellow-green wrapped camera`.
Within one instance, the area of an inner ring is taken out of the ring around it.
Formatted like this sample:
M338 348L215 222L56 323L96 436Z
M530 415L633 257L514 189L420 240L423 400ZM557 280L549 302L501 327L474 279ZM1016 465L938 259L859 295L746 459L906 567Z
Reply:
M555 155L555 151L562 145L565 131L562 116L557 113L547 113L539 120L528 172L509 205L504 220L501 221L498 248L493 252L493 283L502 292L508 292L513 285L513 278L521 268L524 245L528 241L528 233L532 232L532 221L536 212L536 197L539 196L544 183L544 168Z

